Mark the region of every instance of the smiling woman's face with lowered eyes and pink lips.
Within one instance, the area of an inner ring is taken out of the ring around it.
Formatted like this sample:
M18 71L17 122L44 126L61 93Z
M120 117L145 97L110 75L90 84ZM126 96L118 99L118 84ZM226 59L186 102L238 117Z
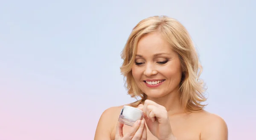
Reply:
M177 90L181 74L178 54L160 33L150 33L140 39L132 75L148 97L162 97Z

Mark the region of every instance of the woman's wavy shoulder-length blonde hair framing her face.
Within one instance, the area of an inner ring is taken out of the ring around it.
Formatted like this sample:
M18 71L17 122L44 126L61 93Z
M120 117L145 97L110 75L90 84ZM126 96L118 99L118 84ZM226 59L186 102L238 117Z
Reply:
M136 85L131 70L140 38L152 32L160 32L169 42L170 47L179 55L182 69L179 91L180 102L184 110L188 112L202 110L206 105L201 104L201 102L207 99L203 95L206 90L204 89L204 82L199 78L202 67L197 52L186 28L177 20L166 16L148 17L140 21L131 31L125 48L122 50L123 63L120 69L125 78L128 94L132 98L141 98L131 105L137 106L147 98L147 95Z

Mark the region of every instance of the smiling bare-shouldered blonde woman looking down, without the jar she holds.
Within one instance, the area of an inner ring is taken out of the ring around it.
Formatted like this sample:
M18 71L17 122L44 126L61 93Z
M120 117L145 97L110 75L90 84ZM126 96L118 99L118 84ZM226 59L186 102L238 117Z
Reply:
M122 51L121 72L128 94L141 100L128 106L144 119L119 123L123 106L106 109L94 140L227 140L225 121L204 110L204 82L192 40L175 19L154 16L140 21Z

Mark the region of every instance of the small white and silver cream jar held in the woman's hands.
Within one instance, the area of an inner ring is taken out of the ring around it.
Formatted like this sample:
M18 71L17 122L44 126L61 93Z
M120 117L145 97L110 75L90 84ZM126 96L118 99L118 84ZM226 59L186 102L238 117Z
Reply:
M123 106L118 121L133 126L137 120L143 119L143 111L131 106Z

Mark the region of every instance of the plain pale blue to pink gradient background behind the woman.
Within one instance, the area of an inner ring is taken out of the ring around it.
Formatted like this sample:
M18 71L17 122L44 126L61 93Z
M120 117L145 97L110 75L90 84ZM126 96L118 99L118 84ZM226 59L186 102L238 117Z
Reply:
M229 140L256 140L256 3L233 0L9 0L0 4L0 140L93 140L102 112L127 104L119 56L143 18L189 30L206 110Z

